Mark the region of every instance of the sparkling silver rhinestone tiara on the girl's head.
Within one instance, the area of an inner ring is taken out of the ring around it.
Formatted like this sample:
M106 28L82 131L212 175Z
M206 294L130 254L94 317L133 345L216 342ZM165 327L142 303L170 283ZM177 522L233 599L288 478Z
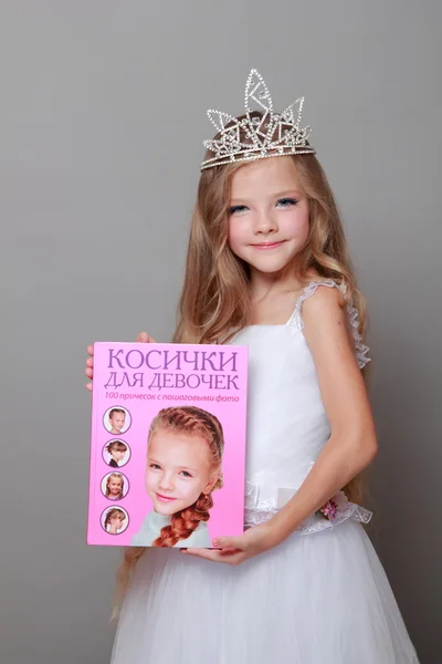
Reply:
M238 120L212 108L207 112L217 137L204 141L203 145L215 156L202 162L201 170L234 162L315 154L307 143L312 127L299 127L303 104L304 97L298 97L283 113L274 113L265 81L252 69L245 83L245 117ZM253 115L253 110L259 114Z

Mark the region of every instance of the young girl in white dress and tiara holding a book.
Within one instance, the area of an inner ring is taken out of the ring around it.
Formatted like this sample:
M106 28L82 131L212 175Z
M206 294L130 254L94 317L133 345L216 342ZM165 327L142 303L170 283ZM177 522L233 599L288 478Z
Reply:
M112 661L415 664L358 522L377 439L364 299L336 204L302 101L275 114L252 71L245 107L209 112L218 135L206 143L175 341L249 346L248 529L213 550L126 550ZM340 512L315 516L340 489Z

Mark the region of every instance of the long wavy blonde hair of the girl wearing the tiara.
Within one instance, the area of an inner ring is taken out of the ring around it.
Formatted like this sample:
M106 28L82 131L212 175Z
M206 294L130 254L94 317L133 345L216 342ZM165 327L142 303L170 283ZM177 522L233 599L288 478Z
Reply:
M253 112L252 116L260 116ZM244 116L239 117L242 120ZM244 141L244 137L241 138ZM208 152L206 158L212 156ZM327 177L313 154L277 157L292 159L309 203L311 229L305 247L296 255L294 274L301 283L333 279L341 292L341 305L350 300L358 311L358 331L366 332L365 298L357 288L344 227ZM178 307L175 343L223 343L235 331L250 324L251 294L249 266L238 258L228 242L228 210L231 181L244 163L227 164L202 170L193 210L187 251L186 273ZM362 497L360 476L344 490L354 502ZM145 549L126 549L119 571L120 593Z

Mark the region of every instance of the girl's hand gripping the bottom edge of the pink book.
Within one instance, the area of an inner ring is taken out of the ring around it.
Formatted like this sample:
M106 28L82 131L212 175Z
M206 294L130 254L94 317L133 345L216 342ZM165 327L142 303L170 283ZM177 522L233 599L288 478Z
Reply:
M206 558L212 562L225 562L228 564L240 564L249 558L272 549L276 542L273 541L272 530L269 523L262 523L250 528L238 537L221 537L213 540L217 549L181 549L180 553Z

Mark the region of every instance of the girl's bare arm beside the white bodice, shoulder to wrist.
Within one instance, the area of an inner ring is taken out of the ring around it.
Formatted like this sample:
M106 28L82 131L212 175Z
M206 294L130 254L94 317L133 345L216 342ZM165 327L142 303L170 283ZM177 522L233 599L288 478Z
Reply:
M304 334L332 436L299 490L269 521L273 546L356 477L377 453L375 424L339 292L319 288L303 309Z

